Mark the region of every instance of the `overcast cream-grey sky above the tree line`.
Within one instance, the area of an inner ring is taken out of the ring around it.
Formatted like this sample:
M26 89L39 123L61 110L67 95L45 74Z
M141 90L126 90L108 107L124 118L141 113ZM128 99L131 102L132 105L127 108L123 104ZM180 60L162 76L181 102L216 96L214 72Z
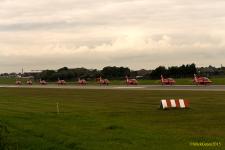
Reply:
M225 65L224 0L0 0L0 72Z

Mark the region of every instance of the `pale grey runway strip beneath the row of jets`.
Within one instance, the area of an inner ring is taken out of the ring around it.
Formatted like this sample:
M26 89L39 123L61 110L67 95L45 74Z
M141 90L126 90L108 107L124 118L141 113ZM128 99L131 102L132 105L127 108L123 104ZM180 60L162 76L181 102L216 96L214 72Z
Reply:
M0 88L53 88L53 89L99 89L99 90L189 90L189 91L225 91L225 85L173 85L173 86L162 86L162 85L137 85L137 86L126 86L126 85L110 85L110 86L99 86L99 85L0 85Z

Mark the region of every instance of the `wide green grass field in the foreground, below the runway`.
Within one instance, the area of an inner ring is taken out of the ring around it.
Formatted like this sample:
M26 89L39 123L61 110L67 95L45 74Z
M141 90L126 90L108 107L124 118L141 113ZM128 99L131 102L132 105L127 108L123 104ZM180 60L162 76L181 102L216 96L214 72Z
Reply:
M161 110L162 98L189 99L191 109ZM0 88L12 149L222 150L224 118L225 92Z

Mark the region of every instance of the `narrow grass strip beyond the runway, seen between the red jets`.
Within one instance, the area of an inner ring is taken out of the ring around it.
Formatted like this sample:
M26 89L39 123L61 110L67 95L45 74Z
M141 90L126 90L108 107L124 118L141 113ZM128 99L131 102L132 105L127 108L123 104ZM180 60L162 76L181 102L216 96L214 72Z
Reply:
M26 83L26 79L21 79L23 84ZM225 77L214 77L211 78L213 81L213 84L215 85L225 85ZM183 79L176 79L177 85L192 85L193 84L192 78L183 78ZM15 84L16 79L15 78L3 78L0 77L0 84ZM123 85L125 84L125 80L111 80L110 81L112 85ZM159 85L160 80L138 80L140 85ZM34 84L39 84L39 82L33 81ZM67 82L67 84L75 84L76 81L70 81ZM49 84L56 84L56 82L49 82ZM96 85L97 83L95 81L88 81L89 85Z

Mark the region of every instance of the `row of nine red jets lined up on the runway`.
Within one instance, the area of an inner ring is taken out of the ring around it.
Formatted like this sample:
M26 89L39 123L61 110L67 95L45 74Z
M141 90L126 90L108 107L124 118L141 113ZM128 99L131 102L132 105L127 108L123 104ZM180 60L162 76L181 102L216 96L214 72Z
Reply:
M138 85L137 79L129 79L128 76L126 76L125 78L126 78L126 84L127 85ZM96 82L99 85L109 85L110 84L110 81L108 79L103 79L102 77L97 78ZM41 85L47 85L47 82L45 80L40 79L39 83ZM77 83L79 85L86 85L87 81L79 78ZM193 83L196 84L196 85L209 85L209 84L212 84L212 81L209 80L206 77L196 76L194 74ZM22 82L20 80L16 80L16 85L21 85L21 84L22 84ZM27 84L32 85L33 84L32 80L28 80ZM58 79L57 84L58 85L65 85L66 81ZM174 84L176 84L176 81L173 78L164 78L163 75L161 75L161 84L162 85L174 85Z

